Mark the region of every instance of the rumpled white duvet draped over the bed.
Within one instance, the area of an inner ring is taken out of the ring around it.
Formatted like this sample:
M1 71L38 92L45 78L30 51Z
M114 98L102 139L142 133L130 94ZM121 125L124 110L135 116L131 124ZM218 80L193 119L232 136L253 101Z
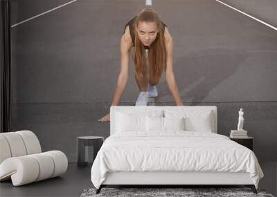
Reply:
M99 188L113 171L248 172L256 188L263 177L250 149L224 135L193 131L115 133L93 162L93 185Z

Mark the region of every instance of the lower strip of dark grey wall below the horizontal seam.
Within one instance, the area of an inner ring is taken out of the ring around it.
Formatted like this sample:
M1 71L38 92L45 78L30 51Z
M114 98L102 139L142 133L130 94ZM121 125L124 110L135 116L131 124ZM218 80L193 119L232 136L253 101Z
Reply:
M238 125L238 111L244 109L244 129L254 138L254 152L259 160L277 158L277 104L276 102L198 102L186 105L217 106L217 133L229 135ZM130 105L123 102L120 105ZM175 105L173 102L157 105ZM17 104L17 118L13 130L30 129L35 132L42 149L59 149L69 160L76 160L76 139L82 135L109 136L109 122L98 122L108 110L105 103L71 104Z

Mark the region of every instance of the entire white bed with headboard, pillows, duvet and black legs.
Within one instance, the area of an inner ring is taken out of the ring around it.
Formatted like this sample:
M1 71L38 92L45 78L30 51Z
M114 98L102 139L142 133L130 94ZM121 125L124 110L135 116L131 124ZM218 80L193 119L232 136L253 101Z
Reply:
M245 185L263 177L250 149L217 134L216 106L111 106L110 136L91 167L107 185Z

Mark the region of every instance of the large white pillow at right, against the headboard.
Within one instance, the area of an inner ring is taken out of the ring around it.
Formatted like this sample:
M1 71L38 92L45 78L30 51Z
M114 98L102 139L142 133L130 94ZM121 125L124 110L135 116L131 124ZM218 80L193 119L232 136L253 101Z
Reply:
M166 118L185 118L186 131L214 131L212 111L165 111Z

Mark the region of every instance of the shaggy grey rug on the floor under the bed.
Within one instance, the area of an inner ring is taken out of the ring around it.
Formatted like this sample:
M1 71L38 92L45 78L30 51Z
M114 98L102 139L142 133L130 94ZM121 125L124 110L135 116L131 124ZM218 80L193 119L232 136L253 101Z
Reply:
M84 189L81 197L92 196L186 196L186 197L202 197L202 196L262 196L274 197L266 194L265 190L258 189L258 194L253 194L250 188L108 188L101 189L100 194L95 194L96 189Z

